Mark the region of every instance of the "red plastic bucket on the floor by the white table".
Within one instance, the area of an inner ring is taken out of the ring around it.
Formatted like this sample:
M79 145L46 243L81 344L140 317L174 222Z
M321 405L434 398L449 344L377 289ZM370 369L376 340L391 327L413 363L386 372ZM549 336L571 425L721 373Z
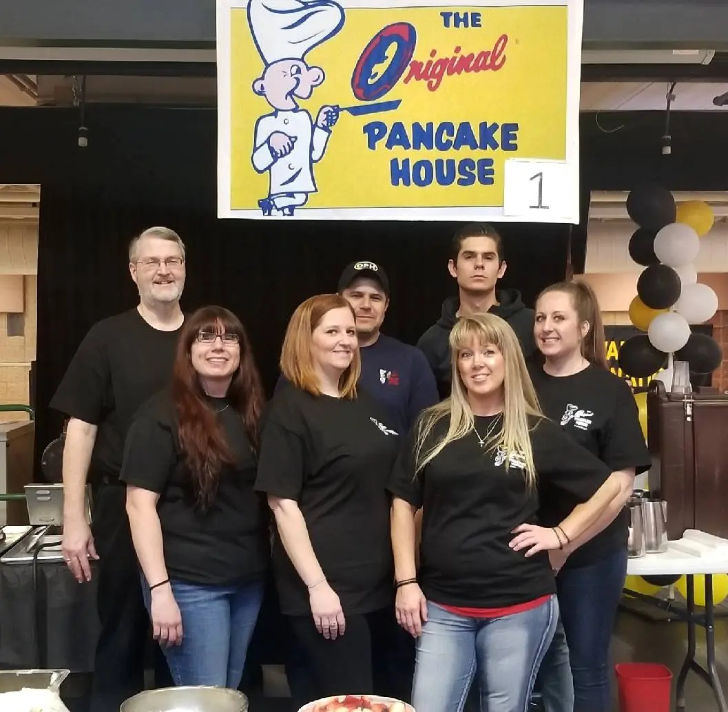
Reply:
M670 712L673 673L656 662L614 665L620 712Z

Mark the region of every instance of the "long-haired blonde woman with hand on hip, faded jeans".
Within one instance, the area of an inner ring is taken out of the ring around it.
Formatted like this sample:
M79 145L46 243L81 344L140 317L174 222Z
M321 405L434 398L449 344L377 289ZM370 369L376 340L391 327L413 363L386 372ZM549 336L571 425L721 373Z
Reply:
M504 320L462 317L450 349L451 397L424 411L389 483L397 622L417 638L412 704L461 712L477 675L483 712L526 712L558 619L547 552L587 531L619 485L543 416ZM545 486L583 503L550 528L537 524Z

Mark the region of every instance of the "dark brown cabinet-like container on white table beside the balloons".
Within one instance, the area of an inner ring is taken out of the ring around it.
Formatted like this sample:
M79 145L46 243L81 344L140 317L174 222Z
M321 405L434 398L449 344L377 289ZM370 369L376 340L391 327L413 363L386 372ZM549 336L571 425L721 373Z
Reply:
M701 529L728 537L728 395L647 395L649 489L668 502L668 537Z

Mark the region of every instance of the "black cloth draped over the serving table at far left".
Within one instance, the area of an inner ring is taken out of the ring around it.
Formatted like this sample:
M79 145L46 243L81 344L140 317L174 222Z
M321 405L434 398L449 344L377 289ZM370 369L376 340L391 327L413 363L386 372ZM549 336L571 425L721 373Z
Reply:
M79 584L66 564L39 563L39 641L32 563L0 564L0 667L93 671L99 624L96 583Z

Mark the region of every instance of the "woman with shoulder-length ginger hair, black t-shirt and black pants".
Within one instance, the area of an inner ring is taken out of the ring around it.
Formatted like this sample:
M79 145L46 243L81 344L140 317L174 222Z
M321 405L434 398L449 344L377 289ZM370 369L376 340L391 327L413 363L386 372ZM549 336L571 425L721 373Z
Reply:
M256 488L275 516L281 610L312 676L310 691L291 692L296 706L302 694L386 695L397 649L387 480L399 437L357 390L349 302L322 294L298 306L280 364L287 382L266 414Z

